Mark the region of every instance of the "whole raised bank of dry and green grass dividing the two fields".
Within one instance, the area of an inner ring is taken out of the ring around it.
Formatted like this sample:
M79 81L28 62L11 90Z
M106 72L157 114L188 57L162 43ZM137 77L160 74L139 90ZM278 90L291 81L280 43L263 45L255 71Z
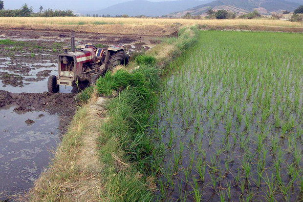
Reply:
M27 199L153 200L161 154L149 132L161 72L157 67L193 41L195 31L183 29L178 39L165 40L79 94L77 101L83 105Z

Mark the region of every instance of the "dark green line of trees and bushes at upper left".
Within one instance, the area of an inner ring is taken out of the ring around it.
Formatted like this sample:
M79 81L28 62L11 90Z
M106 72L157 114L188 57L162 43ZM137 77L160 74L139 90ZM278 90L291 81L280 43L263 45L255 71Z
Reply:
M75 17L76 15L73 14L71 10L55 10L46 9L43 10L43 7L40 6L40 12L35 13L33 12L32 7L28 7L25 3L22 5L20 9L13 9L13 10L4 10L4 3L3 0L0 0L0 17Z

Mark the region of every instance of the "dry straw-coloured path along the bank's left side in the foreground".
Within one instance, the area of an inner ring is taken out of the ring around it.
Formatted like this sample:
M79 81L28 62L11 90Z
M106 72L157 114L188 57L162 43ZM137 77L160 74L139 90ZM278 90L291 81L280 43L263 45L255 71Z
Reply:
M106 120L105 101L93 96L90 103L78 111L52 165L36 181L26 201L102 200L104 165L99 161L97 141L99 126ZM74 140L77 141L71 143ZM41 196L42 193L45 196Z

